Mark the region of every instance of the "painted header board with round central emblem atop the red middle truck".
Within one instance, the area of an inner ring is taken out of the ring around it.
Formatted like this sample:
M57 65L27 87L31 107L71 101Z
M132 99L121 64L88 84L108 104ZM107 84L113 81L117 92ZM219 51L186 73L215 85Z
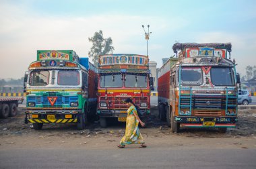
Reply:
M99 58L100 66L113 64L148 65L148 57L142 55L104 55Z

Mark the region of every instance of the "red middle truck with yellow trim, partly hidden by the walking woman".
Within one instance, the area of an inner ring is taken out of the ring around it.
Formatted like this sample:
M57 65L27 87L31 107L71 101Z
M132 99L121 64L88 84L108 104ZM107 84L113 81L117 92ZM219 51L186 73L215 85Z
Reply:
M139 107L139 116L150 113L150 70L148 56L107 54L99 56L98 107L100 125L106 127L110 118L126 121L126 98Z

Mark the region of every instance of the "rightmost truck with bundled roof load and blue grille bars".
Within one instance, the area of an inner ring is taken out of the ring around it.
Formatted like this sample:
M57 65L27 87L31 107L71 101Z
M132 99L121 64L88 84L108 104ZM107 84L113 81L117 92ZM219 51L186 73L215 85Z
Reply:
M231 44L177 43L177 58L158 70L158 110L173 132L180 127L218 127L237 122L239 76L228 59Z

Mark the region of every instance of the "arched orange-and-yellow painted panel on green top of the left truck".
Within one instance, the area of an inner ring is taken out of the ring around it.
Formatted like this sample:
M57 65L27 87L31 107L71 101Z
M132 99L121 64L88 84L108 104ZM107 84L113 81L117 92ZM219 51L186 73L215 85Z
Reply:
M39 60L49 60L49 59L60 59L69 60L69 54L65 54L57 51L49 51L39 54Z

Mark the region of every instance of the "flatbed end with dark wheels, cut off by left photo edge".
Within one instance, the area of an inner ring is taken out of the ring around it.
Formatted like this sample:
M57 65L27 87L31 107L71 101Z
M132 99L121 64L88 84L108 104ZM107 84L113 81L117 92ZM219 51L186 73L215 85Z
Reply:
M18 113L18 105L22 104L23 97L0 97L0 118L6 119Z

